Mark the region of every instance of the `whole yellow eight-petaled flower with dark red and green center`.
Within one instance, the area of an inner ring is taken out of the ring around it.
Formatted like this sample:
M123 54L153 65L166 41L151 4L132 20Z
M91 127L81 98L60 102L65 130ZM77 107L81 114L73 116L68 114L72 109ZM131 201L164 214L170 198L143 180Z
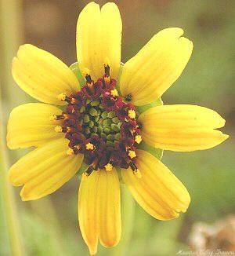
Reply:
M13 164L9 180L24 185L23 200L38 199L86 163L78 219L90 254L98 240L105 247L120 240L119 177L154 218L177 218L189 206L186 188L149 149L201 150L228 137L215 130L225 120L208 108L156 104L190 59L193 43L182 35L180 28L164 29L121 64L117 5L99 9L91 2L78 17L74 72L28 44L13 59L16 83L43 103L20 105L9 117L9 148L35 147Z

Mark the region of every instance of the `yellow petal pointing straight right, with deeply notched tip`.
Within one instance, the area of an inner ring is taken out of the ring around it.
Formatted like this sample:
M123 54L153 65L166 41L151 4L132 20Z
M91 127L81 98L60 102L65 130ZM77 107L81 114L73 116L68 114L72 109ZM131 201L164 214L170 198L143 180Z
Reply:
M155 148L193 151L215 147L228 135L215 128L225 120L215 111L194 105L164 105L139 115L141 135Z

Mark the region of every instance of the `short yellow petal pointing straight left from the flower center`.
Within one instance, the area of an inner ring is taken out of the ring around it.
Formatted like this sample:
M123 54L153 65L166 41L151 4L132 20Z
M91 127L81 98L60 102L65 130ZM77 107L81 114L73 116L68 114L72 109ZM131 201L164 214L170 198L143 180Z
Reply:
M9 116L7 145L11 149L38 147L52 139L64 137L54 128L62 121L50 121L52 115L60 115L55 106L42 103L28 103L13 109Z

